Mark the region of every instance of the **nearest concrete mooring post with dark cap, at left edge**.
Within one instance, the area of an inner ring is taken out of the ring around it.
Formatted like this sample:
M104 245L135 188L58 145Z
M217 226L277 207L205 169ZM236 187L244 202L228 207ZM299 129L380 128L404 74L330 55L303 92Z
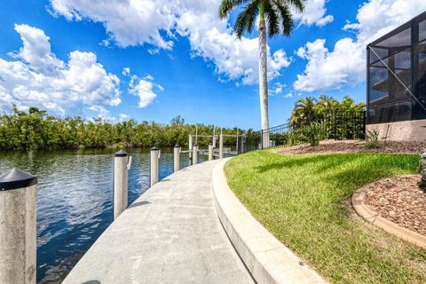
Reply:
M19 169L0 176L0 283L36 284L36 185Z

